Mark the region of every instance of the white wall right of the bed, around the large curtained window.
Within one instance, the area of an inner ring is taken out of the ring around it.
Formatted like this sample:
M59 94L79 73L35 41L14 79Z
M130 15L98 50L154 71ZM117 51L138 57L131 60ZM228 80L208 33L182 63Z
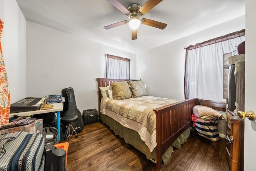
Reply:
M244 28L245 16L240 16L138 54L138 78L147 84L149 95L184 99L184 48Z

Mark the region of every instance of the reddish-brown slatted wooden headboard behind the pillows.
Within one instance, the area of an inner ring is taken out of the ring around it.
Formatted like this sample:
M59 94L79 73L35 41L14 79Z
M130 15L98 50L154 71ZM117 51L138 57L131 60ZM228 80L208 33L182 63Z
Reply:
M98 111L100 114L100 100L102 98L100 87L107 87L112 82L128 82L129 80L122 80L122 79L111 79L111 78L96 78L96 81L98 82Z

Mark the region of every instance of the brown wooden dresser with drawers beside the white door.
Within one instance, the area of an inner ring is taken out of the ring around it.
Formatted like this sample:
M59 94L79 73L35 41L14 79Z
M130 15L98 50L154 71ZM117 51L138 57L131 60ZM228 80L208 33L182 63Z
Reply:
M230 171L244 170L244 119L227 109L227 161Z

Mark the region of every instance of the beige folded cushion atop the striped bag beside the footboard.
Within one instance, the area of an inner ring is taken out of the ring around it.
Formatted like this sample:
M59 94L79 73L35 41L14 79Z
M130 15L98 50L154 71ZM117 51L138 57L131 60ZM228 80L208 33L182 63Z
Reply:
M195 105L193 107L193 113L196 117L210 116L212 118L222 117L222 115L211 107Z

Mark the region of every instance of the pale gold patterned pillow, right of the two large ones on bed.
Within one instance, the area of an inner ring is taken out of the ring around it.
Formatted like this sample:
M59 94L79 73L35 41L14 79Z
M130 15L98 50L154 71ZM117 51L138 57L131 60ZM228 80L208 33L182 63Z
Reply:
M148 95L146 87L142 80L129 81L128 84L132 87L133 97Z

